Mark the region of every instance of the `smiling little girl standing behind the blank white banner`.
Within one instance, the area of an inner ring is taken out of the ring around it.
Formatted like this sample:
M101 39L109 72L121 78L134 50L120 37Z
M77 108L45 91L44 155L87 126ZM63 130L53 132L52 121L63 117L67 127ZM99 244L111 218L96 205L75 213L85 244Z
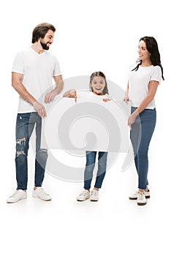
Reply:
M75 102L78 98L86 100L94 100L96 97L101 97L104 102L110 100L107 98L108 89L105 75L102 72L94 72L90 77L89 84L90 91L66 91L63 97L75 98ZM96 174L96 181L94 189L90 192L91 181L93 178L93 171L96 162L97 151L86 151L86 168L84 172L84 190L77 197L77 201L84 201L90 198L91 201L99 200L99 189L102 187L102 182L106 173L107 165L107 152L99 151L98 154L98 170Z

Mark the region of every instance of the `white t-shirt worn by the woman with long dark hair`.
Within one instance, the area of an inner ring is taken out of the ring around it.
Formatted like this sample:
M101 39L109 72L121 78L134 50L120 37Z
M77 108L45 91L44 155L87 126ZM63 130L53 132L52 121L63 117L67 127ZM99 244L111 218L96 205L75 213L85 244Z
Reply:
M148 94L148 85L151 80L161 81L161 67L139 67L137 71L130 72L129 75L129 100L132 101L132 107L138 108L142 100ZM154 99L147 108L155 108Z

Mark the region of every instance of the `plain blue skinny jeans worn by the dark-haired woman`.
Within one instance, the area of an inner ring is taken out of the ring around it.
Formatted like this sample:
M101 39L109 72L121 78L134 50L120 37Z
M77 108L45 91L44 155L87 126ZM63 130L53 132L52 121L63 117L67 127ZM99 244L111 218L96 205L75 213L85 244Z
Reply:
M132 108L134 112L136 108ZM148 185L148 147L156 126L156 109L145 109L132 124L130 138L134 150L134 163L138 174L138 188Z

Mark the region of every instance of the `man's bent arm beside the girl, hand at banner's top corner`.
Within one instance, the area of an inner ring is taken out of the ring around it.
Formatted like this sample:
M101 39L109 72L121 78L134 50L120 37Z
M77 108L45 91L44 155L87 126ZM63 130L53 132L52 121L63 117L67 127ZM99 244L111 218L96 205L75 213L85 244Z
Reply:
M54 76L53 79L56 82L56 87L52 91L45 94L45 103L51 102L56 97L56 95L60 94L64 89L64 80L62 75Z

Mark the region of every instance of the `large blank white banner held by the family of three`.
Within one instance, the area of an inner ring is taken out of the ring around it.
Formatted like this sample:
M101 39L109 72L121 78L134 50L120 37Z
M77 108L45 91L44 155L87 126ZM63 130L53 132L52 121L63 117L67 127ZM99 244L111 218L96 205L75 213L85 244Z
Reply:
M100 97L99 97L100 98ZM41 148L64 151L129 151L130 104L110 99L59 98L42 119Z

